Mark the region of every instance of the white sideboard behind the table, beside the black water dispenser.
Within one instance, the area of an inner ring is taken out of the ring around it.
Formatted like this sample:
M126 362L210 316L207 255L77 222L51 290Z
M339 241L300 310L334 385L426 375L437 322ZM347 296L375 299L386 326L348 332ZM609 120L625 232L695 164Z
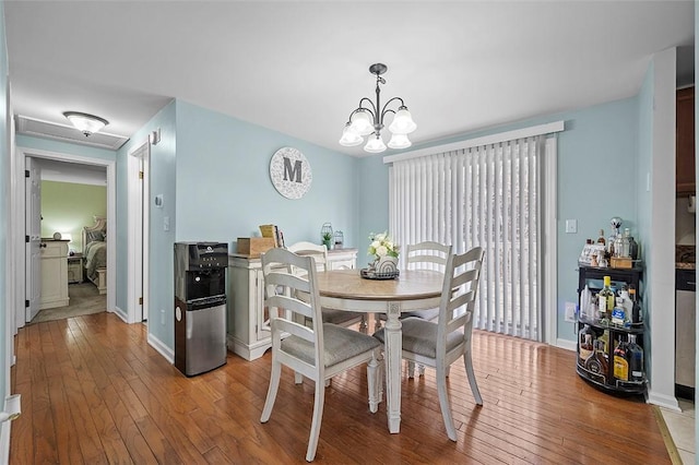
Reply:
M330 270L355 269L357 249L328 252ZM228 350L246 360L262 357L272 346L270 319L264 307L264 281L259 258L228 255L228 314L226 342Z

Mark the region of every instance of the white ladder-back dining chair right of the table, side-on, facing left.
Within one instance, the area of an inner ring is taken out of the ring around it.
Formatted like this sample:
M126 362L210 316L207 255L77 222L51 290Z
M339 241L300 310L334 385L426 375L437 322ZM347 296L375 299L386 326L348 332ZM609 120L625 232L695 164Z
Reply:
M476 302L484 254L484 250L476 247L465 253L449 257L437 322L415 317L406 318L402 322L402 357L414 363L437 370L439 406L445 418L447 434L452 441L457 440L457 430L447 394L447 377L449 375L449 367L459 358L463 358L469 384L476 404L483 405L483 398L473 372L471 335L473 332L473 309ZM383 343L384 330L378 331L374 336Z

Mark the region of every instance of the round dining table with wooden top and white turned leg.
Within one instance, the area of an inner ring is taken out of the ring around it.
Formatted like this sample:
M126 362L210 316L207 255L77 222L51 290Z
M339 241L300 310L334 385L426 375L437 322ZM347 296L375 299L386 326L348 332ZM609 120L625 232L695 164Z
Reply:
M436 271L401 270L392 279L368 279L359 270L318 273L323 308L366 313L386 313L386 401L389 431L401 430L402 312L439 307L443 274Z

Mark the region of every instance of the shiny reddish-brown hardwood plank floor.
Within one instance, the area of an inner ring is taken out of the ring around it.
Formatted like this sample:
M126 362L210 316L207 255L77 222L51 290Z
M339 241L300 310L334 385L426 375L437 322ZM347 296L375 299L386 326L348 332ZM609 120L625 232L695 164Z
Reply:
M146 343L143 325L97 313L26 326L16 337L11 464L304 463L312 384L283 371L260 424L270 354L186 378ZM366 368L333 379L317 463L671 463L650 405L584 383L574 354L477 333L476 407L463 366L449 379L458 442L448 440L434 372L403 379L400 434L371 415Z

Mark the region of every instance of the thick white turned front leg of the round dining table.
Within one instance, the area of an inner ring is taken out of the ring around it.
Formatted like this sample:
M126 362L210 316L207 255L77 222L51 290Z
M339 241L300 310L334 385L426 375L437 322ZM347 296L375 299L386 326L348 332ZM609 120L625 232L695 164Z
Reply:
M386 334L386 404L389 419L389 431L401 431L401 354L403 341L401 335L401 307L398 302L389 302Z

